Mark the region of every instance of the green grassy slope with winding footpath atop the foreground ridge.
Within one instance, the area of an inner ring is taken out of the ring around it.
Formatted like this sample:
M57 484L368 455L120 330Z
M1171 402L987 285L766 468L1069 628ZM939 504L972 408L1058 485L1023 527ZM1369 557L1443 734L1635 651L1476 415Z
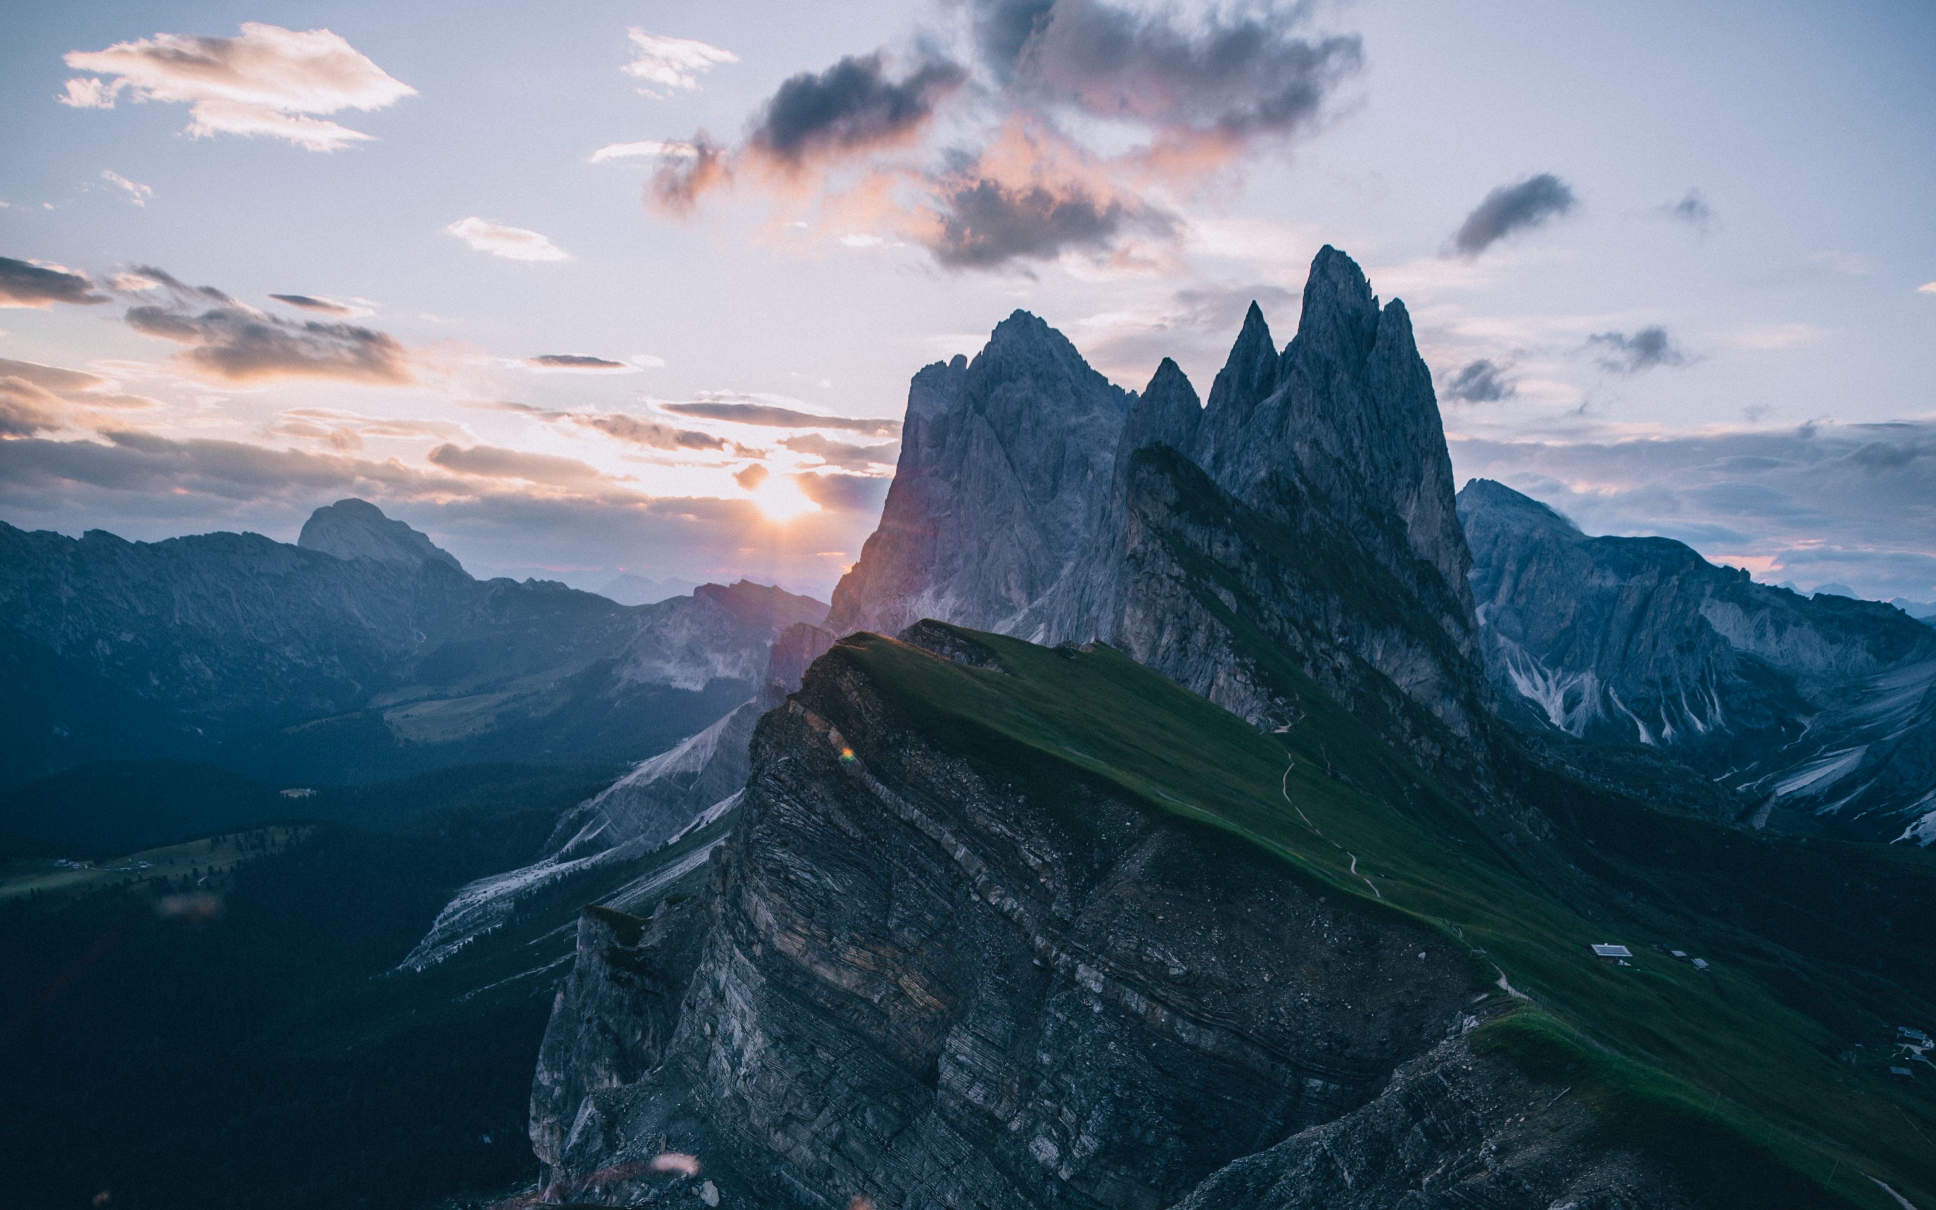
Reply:
M1262 734L1107 647L949 629L1001 670L879 635L844 639L838 658L858 662L902 722L983 767L1061 761L1456 935L1531 997L1479 1045L1576 1084L1719 1204L1899 1210L1880 1179L1936 1206L1926 1084L1837 1061L1849 1038L1725 947L1704 947L1709 972L1651 953L1727 933L1578 871L1557 881L1551 856L1495 840L1506 831L1481 827L1309 681L1305 718ZM1595 962L1595 941L1630 945L1634 966ZM1874 1001L1831 964L1787 951L1783 964L1816 995Z

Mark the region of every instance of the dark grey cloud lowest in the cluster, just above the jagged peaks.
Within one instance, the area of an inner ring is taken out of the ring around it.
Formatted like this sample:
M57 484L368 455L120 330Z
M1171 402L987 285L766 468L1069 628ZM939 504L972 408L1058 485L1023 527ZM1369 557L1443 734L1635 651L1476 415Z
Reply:
M972 180L941 194L941 230L927 250L949 269L995 269L1014 259L1055 259L1069 248L1105 248L1127 227L1167 230L1156 211L1109 199L1082 188L1014 188Z

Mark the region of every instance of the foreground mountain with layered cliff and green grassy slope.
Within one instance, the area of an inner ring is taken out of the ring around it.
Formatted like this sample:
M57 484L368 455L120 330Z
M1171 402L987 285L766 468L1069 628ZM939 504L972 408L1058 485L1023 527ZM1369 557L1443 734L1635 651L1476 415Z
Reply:
M1882 1067L1895 1018L1932 1009L1936 947L1876 931L1936 906L1924 854L1574 786L1541 871L1349 711L1305 705L1266 734L1102 645L842 639L759 722L699 892L581 916L532 1086L538 1196L1936 1191L1936 1113ZM1624 964L1595 960L1609 939ZM1855 1042L1876 1057L1837 1061Z

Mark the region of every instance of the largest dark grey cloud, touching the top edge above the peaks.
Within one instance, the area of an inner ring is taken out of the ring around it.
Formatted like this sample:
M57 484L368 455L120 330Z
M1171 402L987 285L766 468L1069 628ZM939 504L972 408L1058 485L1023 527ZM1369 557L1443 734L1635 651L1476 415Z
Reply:
M976 10L978 50L1024 99L1167 132L1287 134L1363 64L1357 37L1301 37L1303 6L1212 14L1196 27L1098 0Z

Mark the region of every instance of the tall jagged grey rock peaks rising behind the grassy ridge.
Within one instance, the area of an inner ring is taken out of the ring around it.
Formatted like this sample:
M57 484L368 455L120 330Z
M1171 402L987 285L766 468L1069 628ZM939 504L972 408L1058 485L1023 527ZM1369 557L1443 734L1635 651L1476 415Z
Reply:
M1295 339L1253 306L1206 405L1125 397L1034 316L922 370L881 527L827 625L1102 639L1253 722L1311 680L1471 769L1489 687L1431 374L1398 300L1324 248Z

